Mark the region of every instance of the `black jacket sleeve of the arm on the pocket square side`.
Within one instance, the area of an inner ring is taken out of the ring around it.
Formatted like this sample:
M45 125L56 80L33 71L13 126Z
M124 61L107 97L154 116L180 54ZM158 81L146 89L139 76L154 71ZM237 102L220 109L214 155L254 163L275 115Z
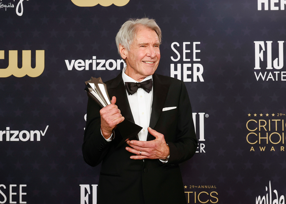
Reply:
M167 165L178 164L190 159L195 154L198 146L191 103L186 86L182 81L179 97L176 141L167 143L170 148L170 157L166 163Z

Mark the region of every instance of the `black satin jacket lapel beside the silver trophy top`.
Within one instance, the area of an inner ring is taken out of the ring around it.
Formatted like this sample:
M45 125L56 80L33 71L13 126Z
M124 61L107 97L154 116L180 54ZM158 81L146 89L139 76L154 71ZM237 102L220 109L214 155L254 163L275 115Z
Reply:
M111 85L109 85L107 88L109 97L116 97L115 104L118 106L118 109L120 109L122 116L125 119L134 123L125 86L122 80L122 72L120 72L120 74L112 81Z

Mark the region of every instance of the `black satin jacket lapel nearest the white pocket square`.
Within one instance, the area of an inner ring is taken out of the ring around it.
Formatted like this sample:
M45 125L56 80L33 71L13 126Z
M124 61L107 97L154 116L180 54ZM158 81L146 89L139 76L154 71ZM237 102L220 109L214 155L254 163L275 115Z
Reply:
M150 128L154 128L164 107L167 94L169 90L169 84L164 84L157 74L153 75L153 102L152 112L150 118ZM154 140L155 137L148 132L147 140Z

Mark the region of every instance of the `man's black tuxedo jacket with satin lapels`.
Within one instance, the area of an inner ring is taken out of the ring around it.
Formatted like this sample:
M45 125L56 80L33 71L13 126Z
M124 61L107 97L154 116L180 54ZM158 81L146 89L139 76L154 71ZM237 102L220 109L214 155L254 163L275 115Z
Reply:
M106 82L110 98L125 119L134 122L122 73ZM162 111L164 107L176 109ZM186 203L179 163L191 158L197 148L192 109L184 83L158 74L153 75L153 103L150 127L164 135L170 147L167 163L158 159L133 160L125 147L115 148L100 132L100 106L88 99L83 158L91 166L102 162L98 184L98 204L109 203ZM115 129L115 137L120 133ZM155 137L148 133L147 140Z

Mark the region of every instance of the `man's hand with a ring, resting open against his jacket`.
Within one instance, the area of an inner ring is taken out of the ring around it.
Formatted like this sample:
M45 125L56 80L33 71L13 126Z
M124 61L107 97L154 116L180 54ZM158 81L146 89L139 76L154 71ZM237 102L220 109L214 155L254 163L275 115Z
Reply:
M125 149L133 154L136 154L135 156L130 156L130 159L166 159L167 156L170 155L170 149L165 142L164 135L156 130L152 130L150 127L148 128L148 131L151 135L156 137L155 140L127 141L127 144L129 144L129 146L132 148L126 147Z

